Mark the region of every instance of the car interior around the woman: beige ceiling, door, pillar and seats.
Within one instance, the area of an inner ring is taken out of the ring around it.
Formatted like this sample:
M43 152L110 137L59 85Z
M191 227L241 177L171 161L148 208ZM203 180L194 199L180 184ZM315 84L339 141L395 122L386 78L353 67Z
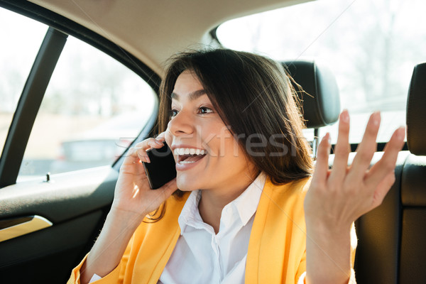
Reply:
M102 229L127 149L156 133L158 102L110 165L19 180L40 105L70 36L119 61L158 94L171 55L222 47L215 34L219 24L302 2L0 0L0 9L48 26L0 143L0 282L65 283ZM278 61L293 77L303 119L315 136L315 156L320 129L335 124L342 110L339 82L327 62ZM356 221L357 283L426 282L426 63L416 64L406 90L407 143L398 155L395 184L379 207ZM356 146L351 143L350 160ZM378 143L373 163L384 147ZM330 166L332 160L330 155Z

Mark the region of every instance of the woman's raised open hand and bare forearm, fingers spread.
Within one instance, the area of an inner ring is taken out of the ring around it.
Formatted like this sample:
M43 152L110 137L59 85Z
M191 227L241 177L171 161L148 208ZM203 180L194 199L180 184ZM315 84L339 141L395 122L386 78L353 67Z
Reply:
M351 226L378 207L395 182L395 163L404 144L405 128L397 129L373 167L380 113L370 116L351 166L349 114L340 114L334 163L329 170L331 143L327 133L318 147L317 164L305 197L306 283L348 283L351 276ZM352 283L352 282L351 282Z

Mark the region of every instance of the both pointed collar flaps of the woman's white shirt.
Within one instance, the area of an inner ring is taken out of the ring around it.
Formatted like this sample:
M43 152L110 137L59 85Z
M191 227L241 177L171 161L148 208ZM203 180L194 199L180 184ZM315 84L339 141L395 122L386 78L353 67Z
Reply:
M253 217L253 214L256 212L259 200L261 199L261 194L265 182L266 175L264 173L260 173L258 177L253 182L251 182L249 187L247 187L246 190L244 190L244 192L239 195L239 197L237 197L229 204L226 204L226 206L222 210L221 222L222 218L224 218L224 212L226 212L226 207L234 207L234 209L236 209L236 211L238 212L241 224L245 226L247 222L249 222L251 217ZM202 224L203 221L200 216L200 212L198 211L198 204L200 203L200 200L200 190L195 190L191 192L178 218L180 234L183 234L187 225L193 226L197 229L201 229L200 224Z

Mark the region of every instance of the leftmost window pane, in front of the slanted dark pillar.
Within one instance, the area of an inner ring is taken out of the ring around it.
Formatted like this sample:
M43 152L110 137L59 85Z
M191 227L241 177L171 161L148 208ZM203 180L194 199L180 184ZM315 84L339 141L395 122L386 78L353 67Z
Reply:
M47 30L43 23L0 8L0 151Z

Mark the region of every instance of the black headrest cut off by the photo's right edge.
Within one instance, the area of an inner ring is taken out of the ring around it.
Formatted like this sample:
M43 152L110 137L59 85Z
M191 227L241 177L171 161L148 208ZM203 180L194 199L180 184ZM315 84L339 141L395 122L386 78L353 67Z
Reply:
M414 67L408 89L407 144L415 155L426 155L426 63Z

